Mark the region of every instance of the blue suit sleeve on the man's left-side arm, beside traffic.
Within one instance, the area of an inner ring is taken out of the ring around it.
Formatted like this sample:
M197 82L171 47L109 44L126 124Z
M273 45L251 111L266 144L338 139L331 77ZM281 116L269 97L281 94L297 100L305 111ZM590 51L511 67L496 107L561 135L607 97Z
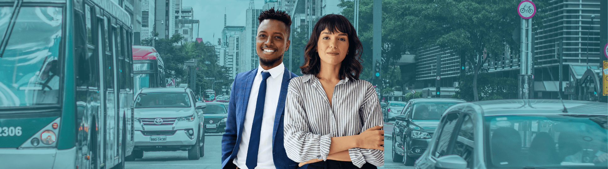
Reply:
M237 144L237 97L235 86L237 86L238 75L234 78L232 90L230 90L230 102L228 104L228 117L226 118L226 133L222 136L222 162L226 161L233 153Z

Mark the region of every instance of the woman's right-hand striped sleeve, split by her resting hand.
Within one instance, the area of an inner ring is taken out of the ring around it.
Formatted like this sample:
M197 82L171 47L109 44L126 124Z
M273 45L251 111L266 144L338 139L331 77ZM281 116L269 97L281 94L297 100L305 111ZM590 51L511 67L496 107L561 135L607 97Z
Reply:
M361 131L383 124L378 94L376 94L375 88L371 87L371 85L369 85L367 91L365 91L365 99L361 108L359 108L359 114L361 115L361 118L364 118L365 120ZM348 154L353 164L359 168L361 168L365 162L378 167L384 165L384 151L382 150L350 148L348 149Z

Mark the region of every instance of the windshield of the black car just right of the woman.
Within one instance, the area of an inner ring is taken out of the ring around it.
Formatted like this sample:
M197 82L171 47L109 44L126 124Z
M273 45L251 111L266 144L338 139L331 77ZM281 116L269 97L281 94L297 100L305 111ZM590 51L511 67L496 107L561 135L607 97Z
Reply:
M439 120L443 111L458 103L419 103L414 104L412 119L414 120Z

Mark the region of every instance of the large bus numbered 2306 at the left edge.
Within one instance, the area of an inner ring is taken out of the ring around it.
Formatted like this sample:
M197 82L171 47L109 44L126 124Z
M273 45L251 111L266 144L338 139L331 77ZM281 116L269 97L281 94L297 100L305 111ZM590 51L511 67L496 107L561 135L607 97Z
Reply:
M106 0L0 0L0 168L124 168L131 16Z

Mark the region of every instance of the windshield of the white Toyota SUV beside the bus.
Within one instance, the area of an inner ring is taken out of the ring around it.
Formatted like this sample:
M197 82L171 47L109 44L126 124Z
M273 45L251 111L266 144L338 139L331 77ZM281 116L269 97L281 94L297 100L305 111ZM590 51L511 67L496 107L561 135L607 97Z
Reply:
M135 108L151 107L190 107L190 99L185 92L140 93L135 99Z

